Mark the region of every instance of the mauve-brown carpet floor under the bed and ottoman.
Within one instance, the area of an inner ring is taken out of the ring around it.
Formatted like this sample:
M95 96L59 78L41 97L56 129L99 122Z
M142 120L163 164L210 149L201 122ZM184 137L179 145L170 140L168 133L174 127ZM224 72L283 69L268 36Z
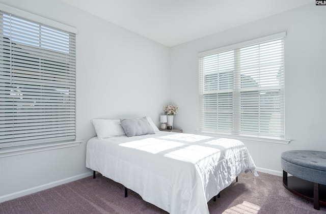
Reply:
M210 214L301 214L326 213L326 207L313 208L313 203L302 199L282 185L282 177L259 172L242 173L238 182L221 192L221 198L208 202ZM124 187L100 174L96 179L86 177L68 184L40 191L0 203L0 213L162 213L168 212L145 202Z

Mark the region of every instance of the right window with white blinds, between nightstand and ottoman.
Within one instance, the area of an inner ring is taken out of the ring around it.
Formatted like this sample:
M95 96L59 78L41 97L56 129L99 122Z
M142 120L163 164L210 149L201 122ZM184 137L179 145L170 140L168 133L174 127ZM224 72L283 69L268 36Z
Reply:
M284 37L199 54L200 131L284 139Z

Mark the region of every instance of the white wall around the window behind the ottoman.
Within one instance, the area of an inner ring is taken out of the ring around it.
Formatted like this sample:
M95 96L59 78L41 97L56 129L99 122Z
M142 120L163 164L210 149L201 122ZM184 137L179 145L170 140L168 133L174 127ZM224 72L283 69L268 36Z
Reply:
M175 125L195 133L199 124L198 57L206 51L284 30L285 123L289 144L244 141L261 171L281 175L281 152L326 151L326 10L314 4L258 20L170 49Z

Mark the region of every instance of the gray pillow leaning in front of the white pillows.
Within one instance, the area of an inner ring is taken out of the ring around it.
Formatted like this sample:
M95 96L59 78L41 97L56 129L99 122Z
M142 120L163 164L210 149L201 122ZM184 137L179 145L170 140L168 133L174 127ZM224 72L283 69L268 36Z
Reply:
M126 133L128 137L155 134L146 117L138 119L120 119L120 123L124 133Z

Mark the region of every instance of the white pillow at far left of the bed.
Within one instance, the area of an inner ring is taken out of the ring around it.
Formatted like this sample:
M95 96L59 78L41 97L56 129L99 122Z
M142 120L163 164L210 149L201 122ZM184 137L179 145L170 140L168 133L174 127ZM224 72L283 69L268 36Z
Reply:
M92 119L91 121L98 139L126 135L120 119Z

